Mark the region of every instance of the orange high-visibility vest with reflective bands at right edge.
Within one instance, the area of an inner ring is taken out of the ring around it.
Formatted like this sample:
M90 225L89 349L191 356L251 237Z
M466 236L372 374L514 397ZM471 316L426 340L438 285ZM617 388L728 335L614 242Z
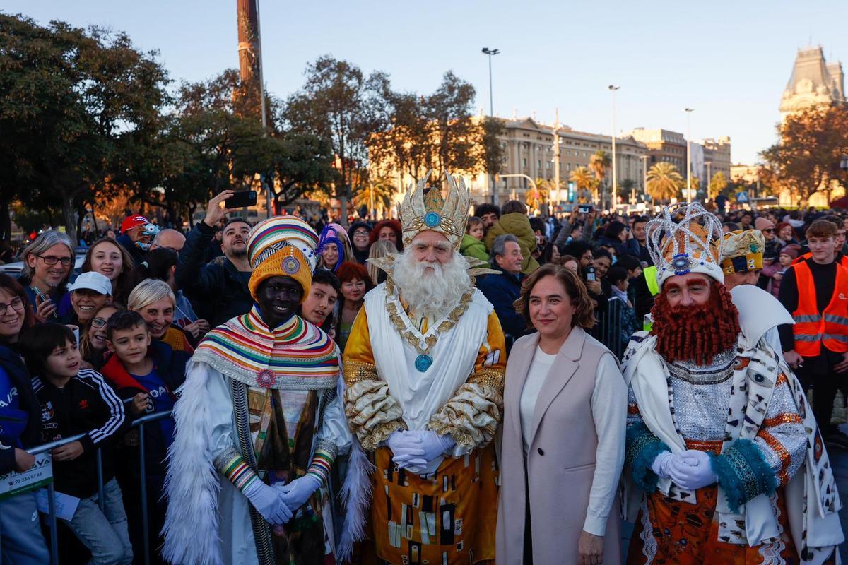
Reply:
M836 353L848 352L848 270L836 265L834 296L824 312L818 312L816 284L806 261L793 265L798 286L798 307L792 313L795 352L815 357L822 345Z

